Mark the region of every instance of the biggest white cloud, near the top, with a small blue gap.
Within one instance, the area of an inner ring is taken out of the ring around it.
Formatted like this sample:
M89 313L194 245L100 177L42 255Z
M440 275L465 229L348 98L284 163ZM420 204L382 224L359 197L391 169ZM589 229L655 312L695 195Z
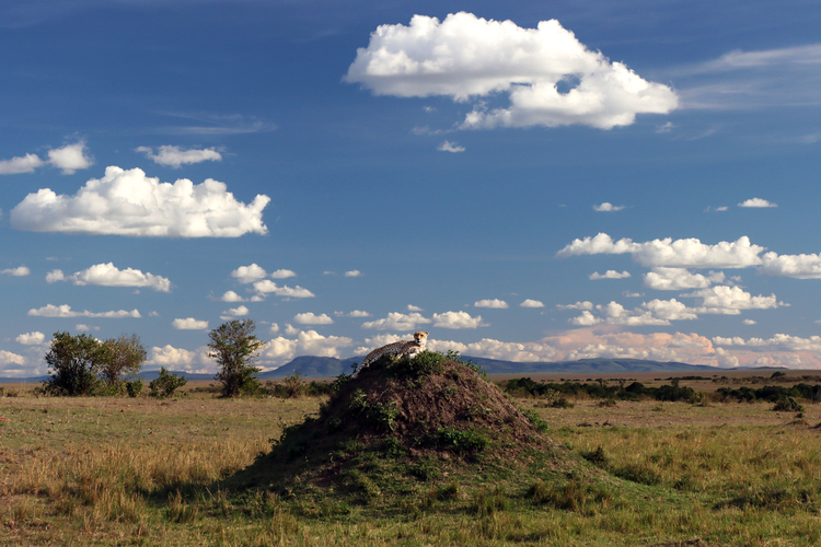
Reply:
M634 123L636 114L666 114L678 96L621 62L590 51L555 21L521 28L471 13L414 15L409 26L381 25L345 80L377 95L450 96L454 101L508 93L510 106L470 113L463 128L562 126L602 129Z

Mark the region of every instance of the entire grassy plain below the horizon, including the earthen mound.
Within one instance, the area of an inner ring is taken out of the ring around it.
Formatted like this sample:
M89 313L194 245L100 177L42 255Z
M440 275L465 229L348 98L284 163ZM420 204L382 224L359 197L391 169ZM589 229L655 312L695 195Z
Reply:
M449 357L384 360L329 395L299 376L240 398L5 388L0 544L821 542L811 389L786 395L799 411L718 391L534 394Z

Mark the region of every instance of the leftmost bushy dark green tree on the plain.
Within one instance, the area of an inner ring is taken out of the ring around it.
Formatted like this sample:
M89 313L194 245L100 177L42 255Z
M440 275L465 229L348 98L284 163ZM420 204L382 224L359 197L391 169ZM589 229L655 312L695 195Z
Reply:
M91 395L107 358L106 346L92 336L55 333L46 353L50 377L43 382L43 388L55 395Z

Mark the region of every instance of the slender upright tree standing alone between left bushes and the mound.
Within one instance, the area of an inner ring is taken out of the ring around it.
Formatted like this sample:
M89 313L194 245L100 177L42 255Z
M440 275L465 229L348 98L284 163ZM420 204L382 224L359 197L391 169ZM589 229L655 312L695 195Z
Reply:
M257 351L265 342L257 340L254 328L252 319L233 319L208 335L211 339L208 357L220 365L220 371L213 377L222 383L223 397L253 393L259 387L255 376L259 369L250 363L256 359Z

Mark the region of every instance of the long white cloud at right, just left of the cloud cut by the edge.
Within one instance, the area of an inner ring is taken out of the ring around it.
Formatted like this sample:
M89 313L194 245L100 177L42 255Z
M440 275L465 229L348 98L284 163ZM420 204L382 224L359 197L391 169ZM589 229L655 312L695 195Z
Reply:
M614 242L610 235L600 233L574 240L557 256L631 254L636 263L650 268L747 268L761 264L759 255L763 251L764 247L751 244L747 236L706 245L697 238L673 241L672 237L646 243L623 237Z

